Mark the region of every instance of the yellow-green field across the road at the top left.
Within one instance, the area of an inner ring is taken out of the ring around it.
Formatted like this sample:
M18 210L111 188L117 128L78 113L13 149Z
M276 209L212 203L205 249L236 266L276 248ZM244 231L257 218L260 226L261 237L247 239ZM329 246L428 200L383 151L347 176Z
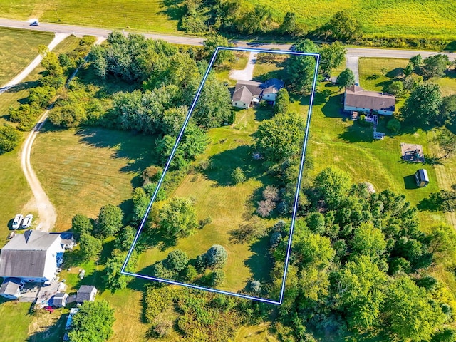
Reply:
M0 17L117 30L177 33L179 11L166 11L161 0L0 0Z

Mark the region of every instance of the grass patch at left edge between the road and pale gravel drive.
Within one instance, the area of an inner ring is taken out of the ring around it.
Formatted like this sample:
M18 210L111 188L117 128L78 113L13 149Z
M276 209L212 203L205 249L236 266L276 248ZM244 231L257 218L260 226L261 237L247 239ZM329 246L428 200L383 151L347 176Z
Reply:
M47 32L0 28L0 87L26 68L38 56L38 45L47 46L53 36Z

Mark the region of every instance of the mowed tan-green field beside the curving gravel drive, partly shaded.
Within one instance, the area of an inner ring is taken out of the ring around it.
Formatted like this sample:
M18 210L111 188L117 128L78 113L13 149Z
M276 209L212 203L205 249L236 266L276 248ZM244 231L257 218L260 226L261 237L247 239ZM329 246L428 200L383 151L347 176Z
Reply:
M155 142L128 132L44 126L33 145L31 163L57 209L56 230L71 227L78 213L98 216L111 203L129 208L138 172L155 161ZM125 209L125 208L124 208Z

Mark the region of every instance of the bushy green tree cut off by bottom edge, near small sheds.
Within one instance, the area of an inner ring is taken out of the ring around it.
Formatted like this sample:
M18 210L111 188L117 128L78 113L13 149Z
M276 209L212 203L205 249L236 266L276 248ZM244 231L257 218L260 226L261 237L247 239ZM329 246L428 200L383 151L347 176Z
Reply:
M113 336L114 309L107 301L85 301L73 316L70 342L105 342Z

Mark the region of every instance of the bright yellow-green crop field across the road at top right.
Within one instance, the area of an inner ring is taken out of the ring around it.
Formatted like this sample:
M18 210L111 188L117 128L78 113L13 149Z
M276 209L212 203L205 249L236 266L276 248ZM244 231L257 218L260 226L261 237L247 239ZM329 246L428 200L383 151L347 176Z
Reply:
M452 0L252 0L249 4L271 9L276 20L294 11L310 29L324 24L337 11L348 11L361 22L366 36L456 38L456 3Z

